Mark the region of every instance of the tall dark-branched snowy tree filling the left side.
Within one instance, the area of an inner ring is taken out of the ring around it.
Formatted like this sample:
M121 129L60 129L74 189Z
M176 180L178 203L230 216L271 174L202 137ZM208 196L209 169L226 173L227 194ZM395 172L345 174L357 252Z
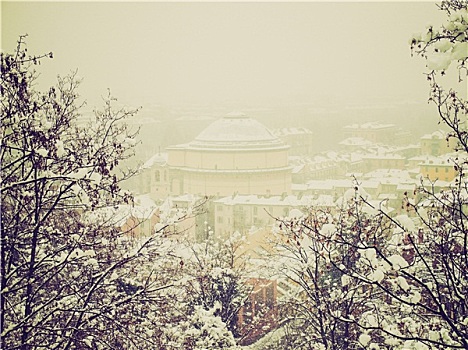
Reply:
M148 258L167 251L156 236L132 243L97 215L132 204L119 184L132 175L120 165L133 154L125 118L136 111L115 111L109 96L80 126L75 74L36 89L46 57L28 56L24 37L1 54L1 348L154 346L156 332L142 326L161 311L172 281L157 268L171 262Z

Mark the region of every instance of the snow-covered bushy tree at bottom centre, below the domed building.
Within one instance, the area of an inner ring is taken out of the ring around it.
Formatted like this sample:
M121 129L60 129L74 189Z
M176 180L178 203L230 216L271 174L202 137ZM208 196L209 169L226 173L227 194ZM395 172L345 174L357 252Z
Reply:
M234 346L241 337L238 312L244 304L245 261L238 256L240 236L226 241L182 241L175 255L180 257L181 291L179 307L185 317L167 328L166 337L187 348L212 349Z

